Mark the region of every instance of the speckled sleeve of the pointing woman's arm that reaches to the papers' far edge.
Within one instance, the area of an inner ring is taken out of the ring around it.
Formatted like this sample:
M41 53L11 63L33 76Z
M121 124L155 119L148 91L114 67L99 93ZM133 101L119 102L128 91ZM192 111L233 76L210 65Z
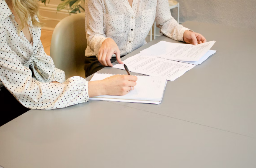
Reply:
M155 21L161 33L174 40L183 41L184 31L189 30L171 16L168 0L158 0Z

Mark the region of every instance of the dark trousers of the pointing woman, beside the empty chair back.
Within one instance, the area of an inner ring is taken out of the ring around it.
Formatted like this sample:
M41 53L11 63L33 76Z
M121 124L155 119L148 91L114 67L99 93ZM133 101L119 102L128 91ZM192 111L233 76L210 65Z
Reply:
M125 55L121 56L124 57ZM116 61L116 57L112 57L110 59L111 63L114 63ZM90 57L85 57L85 77L88 77L92 75L93 73L96 73L97 71L101 70L105 66L101 65L101 63L98 61L98 58L96 56L90 56Z

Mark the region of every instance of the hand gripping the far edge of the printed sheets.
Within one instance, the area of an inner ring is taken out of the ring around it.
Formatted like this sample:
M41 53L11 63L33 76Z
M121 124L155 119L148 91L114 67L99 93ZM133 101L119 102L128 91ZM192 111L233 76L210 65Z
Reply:
M194 45L206 42L206 39L204 38L204 36L202 36L199 33L191 32L189 30L186 30L184 32L183 40L188 44L194 44Z

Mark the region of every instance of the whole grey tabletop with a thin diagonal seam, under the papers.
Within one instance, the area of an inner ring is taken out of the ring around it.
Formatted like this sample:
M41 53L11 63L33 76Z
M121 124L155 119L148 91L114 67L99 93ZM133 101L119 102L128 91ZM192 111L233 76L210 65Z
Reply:
M91 100L30 110L0 127L0 165L255 168L256 33L195 22L184 26L216 40L217 53L168 82L160 105ZM161 40L179 43L161 36L123 60ZM107 67L100 73L125 71Z

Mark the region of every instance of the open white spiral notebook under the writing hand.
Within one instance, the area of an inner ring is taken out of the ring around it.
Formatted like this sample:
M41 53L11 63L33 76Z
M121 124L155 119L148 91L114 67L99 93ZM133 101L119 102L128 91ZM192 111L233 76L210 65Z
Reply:
M114 74L101 74L96 73L91 78L91 81L103 80ZM91 100L107 100L107 101L122 101L133 103L151 103L160 104L163 98L163 92L166 85L165 77L153 76L137 76L137 85L134 90L123 96L100 95L90 98Z

